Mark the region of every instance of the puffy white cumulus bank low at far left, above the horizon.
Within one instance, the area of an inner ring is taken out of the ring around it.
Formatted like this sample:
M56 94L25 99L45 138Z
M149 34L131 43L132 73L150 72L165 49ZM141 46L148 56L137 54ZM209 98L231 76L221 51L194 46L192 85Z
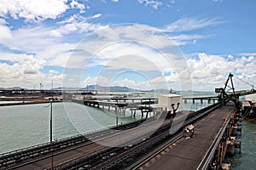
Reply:
M1 87L20 86L22 88L39 88L38 84L43 83L44 88L51 88L51 81L54 86L60 87L63 78L66 77L55 70L43 73L42 70L46 61L28 54L0 54L0 84ZM6 62L9 61L9 62Z

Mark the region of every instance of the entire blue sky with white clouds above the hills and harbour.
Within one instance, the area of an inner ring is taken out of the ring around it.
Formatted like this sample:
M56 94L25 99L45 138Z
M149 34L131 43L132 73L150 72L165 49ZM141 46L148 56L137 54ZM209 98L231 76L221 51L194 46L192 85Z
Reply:
M0 87L256 84L253 0L0 0Z

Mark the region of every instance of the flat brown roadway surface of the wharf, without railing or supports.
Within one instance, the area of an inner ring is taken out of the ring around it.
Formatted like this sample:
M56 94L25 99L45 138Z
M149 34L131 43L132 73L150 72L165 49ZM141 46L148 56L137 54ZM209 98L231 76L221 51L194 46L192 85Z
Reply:
M194 138L177 140L139 169L196 169L223 126L223 118L234 109L235 105L228 104L212 111L207 119L195 127Z

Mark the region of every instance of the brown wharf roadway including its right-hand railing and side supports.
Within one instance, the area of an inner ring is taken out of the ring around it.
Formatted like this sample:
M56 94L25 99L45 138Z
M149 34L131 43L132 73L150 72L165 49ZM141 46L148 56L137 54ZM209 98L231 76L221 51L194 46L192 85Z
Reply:
M136 169L207 169L216 155L218 159L211 166L218 169L219 165L223 169L229 169L229 165L224 164L225 154L234 154L235 146L241 147L240 143L235 143L236 138L231 137L234 128L237 129L235 112L233 103L212 111L206 119L196 125L195 137L179 138L166 144L154 155L148 156Z

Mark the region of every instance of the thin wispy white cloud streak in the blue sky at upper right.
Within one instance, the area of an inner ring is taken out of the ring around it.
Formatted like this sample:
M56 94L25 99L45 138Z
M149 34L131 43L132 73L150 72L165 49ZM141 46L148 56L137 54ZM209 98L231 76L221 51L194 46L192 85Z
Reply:
M172 22L171 25L166 27L165 31L191 31L206 26L216 26L222 23L224 23L224 21L220 21L218 19L199 19L195 17L183 17L180 20Z

